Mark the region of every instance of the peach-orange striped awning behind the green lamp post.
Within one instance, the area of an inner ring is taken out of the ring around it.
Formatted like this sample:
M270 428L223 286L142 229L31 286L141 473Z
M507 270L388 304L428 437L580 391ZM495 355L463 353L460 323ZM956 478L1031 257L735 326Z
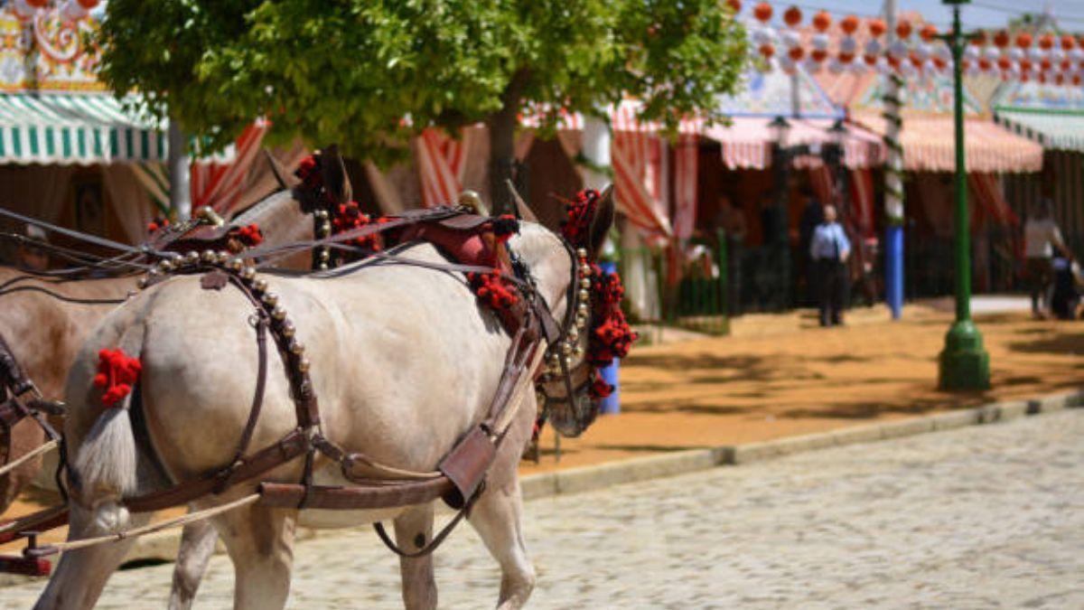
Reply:
M887 120L879 115L854 118L883 136ZM953 171L956 168L955 129L951 116L906 116L900 132L904 169ZM968 171L1022 173L1043 168L1043 147L1010 134L992 120L966 118L964 145Z

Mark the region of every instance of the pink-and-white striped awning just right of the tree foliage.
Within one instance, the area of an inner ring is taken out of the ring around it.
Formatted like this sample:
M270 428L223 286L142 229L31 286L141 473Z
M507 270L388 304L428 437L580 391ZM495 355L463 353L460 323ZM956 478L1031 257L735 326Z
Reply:
M770 118L737 117L731 125L712 125L705 136L722 144L723 163L731 169L765 169L772 166L774 136ZM831 142L834 122L829 118L790 118L787 145L806 144L818 149ZM812 151L812 152L815 152ZM880 165L885 149L880 138L857 125L847 125L843 137L843 164L852 169ZM823 162L812 154L796 160L800 167L815 167Z

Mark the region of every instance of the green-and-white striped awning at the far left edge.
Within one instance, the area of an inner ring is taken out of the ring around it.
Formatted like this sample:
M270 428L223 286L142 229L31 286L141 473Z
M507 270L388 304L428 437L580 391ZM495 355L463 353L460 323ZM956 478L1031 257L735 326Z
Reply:
M0 163L91 165L166 158L166 135L106 93L0 93Z

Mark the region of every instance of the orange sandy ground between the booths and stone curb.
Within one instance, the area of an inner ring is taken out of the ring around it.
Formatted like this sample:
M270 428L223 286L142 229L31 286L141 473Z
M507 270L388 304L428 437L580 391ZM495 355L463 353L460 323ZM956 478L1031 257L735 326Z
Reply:
M947 302L909 306L901 321L883 307L855 309L848 326L833 329L799 310L737 318L730 336L645 332L644 343L656 344L634 347L622 365L622 412L563 440L559 461L546 429L540 462L525 461L522 471L764 441L1084 385L1084 322L1035 321L1023 312L976 320L993 377L992 390L976 393L937 390L937 356L952 321ZM51 500L33 492L5 517Z

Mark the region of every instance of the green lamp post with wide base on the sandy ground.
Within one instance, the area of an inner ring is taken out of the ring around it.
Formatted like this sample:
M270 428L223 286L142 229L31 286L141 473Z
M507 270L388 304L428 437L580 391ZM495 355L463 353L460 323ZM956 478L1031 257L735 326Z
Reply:
M956 128L956 321L945 334L941 352L939 385L942 390L990 387L990 354L982 334L971 321L971 232L967 209L967 170L964 155L964 75L960 59L967 36L960 31L959 5L970 0L944 0L953 10L953 29L945 36L952 50L954 122Z

